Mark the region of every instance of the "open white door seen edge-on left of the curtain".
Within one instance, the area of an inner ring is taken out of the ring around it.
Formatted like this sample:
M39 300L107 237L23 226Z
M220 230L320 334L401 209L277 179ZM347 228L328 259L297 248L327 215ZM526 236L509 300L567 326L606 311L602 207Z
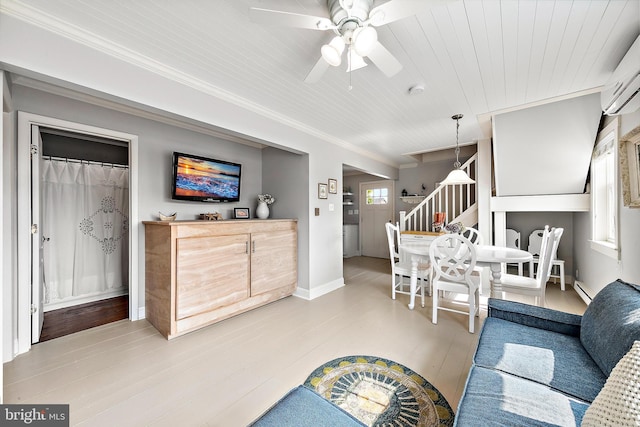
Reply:
M44 324L44 256L40 171L42 166L40 128L31 126L31 343L40 341Z

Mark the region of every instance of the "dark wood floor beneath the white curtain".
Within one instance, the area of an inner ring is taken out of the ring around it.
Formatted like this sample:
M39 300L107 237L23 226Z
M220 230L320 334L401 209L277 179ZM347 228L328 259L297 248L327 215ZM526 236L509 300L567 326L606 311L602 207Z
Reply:
M128 317L129 297L127 295L48 311L44 314L40 342Z

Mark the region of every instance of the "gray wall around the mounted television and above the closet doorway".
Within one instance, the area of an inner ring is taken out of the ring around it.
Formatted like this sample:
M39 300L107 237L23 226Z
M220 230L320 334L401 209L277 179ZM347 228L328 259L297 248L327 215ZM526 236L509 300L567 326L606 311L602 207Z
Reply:
M158 219L158 212L177 212L177 219L197 219L201 213L217 211L224 218L231 218L234 207L253 205L257 194L262 190L262 152L258 148L24 86L14 86L13 98L17 110L138 135L139 215L142 221ZM172 200L171 168L174 150L242 164L240 202L196 203ZM141 275L141 280L144 281L144 275Z

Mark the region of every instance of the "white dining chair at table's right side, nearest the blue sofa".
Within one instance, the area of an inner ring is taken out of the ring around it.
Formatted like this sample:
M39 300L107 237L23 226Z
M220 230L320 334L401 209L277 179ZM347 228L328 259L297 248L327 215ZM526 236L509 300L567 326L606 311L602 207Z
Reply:
M494 289L499 292L533 296L536 299L536 305L544 307L547 281L551 274L551 261L553 254L558 249L563 232L563 228L549 230L548 226L542 231L540 258L535 278L515 274L502 274L500 283L497 285L494 283Z

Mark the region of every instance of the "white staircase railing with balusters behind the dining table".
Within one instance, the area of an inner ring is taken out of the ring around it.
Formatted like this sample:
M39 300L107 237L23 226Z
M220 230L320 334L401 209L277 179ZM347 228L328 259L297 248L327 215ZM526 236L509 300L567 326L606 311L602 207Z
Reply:
M460 168L469 177L477 176L478 154L471 156ZM463 220L466 226L472 218L477 221L476 184L438 185L425 199L409 213L400 211L400 229L402 231L432 231L431 225L435 212L445 213L445 223ZM473 213L475 212L475 215Z

